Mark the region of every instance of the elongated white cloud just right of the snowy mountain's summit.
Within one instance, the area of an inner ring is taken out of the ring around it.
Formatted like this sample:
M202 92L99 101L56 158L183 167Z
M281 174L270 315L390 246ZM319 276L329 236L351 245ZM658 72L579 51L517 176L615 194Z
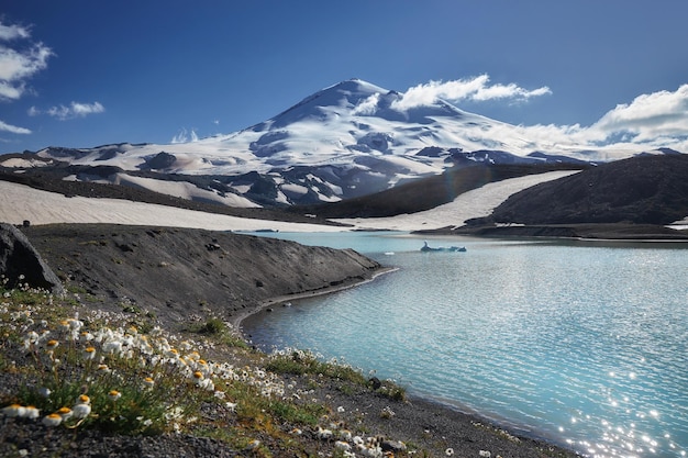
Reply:
M392 108L397 110L408 110L413 107L431 104L437 99L444 99L451 102L459 102L462 100L481 102L496 99L525 101L532 97L550 93L552 93L552 91L546 86L528 90L513 82L509 85L491 85L488 75L480 75L468 79L430 81L414 86L401 94L401 98L392 103Z

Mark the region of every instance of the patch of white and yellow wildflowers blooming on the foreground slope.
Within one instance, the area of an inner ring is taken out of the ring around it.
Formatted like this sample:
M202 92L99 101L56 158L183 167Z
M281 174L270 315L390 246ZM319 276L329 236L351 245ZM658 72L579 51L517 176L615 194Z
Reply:
M208 422L204 409L214 405L223 417L214 416L213 424L224 420L225 425L251 431L235 436L241 440L259 428L263 438L271 434L264 425L275 424L278 415L285 415L282 421L291 415L287 420L291 425L312 427L326 411L313 390L324 377L360 377L365 382L353 368L331 367L333 362L323 362L310 351L286 349L266 358L251 353L241 358L249 364L218 362L203 357L214 354L209 351L217 345L212 339L182 339L159 327L140 332L131 325L131 314L16 299L10 292L0 302L0 333L13 336L5 347L12 357L5 359L33 359L34 364L16 364L15 373L25 378L24 388L3 398L0 411L7 418L25 418L38 427L95 427L124 434L188 432L196 428L191 423ZM300 373L312 376L308 383L278 376L289 373L289 368L270 367L280 358L306 368ZM323 425L313 434L329 442L335 456L382 456L379 438L355 436L343 424ZM301 434L298 427L293 432ZM256 454L265 447L257 439L249 444Z

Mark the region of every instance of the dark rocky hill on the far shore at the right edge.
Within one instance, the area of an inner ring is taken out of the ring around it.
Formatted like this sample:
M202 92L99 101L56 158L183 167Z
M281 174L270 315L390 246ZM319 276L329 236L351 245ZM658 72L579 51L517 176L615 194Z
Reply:
M670 224L688 216L686 177L684 154L618 160L518 192L469 225Z

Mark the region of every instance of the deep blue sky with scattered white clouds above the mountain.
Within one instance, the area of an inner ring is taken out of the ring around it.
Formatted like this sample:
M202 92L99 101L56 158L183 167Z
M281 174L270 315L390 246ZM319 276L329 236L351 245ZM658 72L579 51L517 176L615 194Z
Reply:
M7 0L0 153L226 134L352 77L541 132L686 139L686 18L684 0Z

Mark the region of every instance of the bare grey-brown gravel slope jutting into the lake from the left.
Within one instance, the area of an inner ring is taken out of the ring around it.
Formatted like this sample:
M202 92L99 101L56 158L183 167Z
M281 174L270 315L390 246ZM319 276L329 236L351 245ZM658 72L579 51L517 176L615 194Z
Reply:
M271 298L353 284L380 268L351 249L224 232L107 224L22 231L86 302L166 325L236 321Z

